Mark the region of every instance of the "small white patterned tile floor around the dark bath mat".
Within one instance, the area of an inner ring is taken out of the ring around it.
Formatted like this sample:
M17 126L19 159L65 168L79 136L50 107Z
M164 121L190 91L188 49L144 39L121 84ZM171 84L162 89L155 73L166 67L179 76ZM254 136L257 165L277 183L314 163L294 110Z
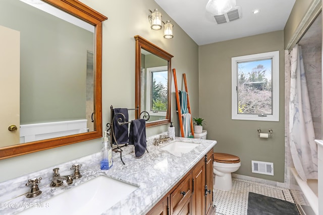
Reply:
M242 179L232 179L233 188L229 191L214 189L214 204L217 206L214 215L246 215L248 192L258 193L294 203L289 189L261 184Z

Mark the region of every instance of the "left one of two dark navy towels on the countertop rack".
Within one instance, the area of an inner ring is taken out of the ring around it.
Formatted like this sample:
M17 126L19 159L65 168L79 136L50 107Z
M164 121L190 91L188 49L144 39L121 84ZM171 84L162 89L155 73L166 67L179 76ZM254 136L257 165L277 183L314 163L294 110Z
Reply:
M128 123L119 125L118 119L123 119L121 114L125 115L125 122L128 122L128 109L127 108L114 108L114 115L116 115L115 120L113 122L113 130L116 136L116 140L118 144L127 144L128 143ZM112 116L114 117L114 116ZM115 144L115 139L112 138L112 143Z

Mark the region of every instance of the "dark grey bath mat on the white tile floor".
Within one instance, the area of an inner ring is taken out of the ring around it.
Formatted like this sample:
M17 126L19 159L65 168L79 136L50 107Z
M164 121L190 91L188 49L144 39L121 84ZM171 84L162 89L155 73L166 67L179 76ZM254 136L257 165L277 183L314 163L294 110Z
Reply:
M299 215L296 204L249 192L248 215Z

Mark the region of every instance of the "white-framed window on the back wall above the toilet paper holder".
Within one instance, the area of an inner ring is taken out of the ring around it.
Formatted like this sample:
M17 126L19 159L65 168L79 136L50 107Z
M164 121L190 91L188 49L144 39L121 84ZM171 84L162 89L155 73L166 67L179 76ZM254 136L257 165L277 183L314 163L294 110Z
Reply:
M232 119L279 121L279 51L232 57Z

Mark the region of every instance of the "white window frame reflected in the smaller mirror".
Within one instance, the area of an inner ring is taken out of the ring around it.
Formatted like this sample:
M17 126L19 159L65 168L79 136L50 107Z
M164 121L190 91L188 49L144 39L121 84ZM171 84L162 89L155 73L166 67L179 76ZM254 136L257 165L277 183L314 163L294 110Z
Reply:
M147 74L147 78L146 78L146 107L147 107L147 112L149 113L149 115L151 116L165 116L166 117L166 113L167 111L156 111L153 112L150 110L150 101L151 101L151 73L153 73L154 71L167 71L168 70L168 66L156 66L156 67L150 67L146 69L146 74ZM169 80L167 80L169 81Z

